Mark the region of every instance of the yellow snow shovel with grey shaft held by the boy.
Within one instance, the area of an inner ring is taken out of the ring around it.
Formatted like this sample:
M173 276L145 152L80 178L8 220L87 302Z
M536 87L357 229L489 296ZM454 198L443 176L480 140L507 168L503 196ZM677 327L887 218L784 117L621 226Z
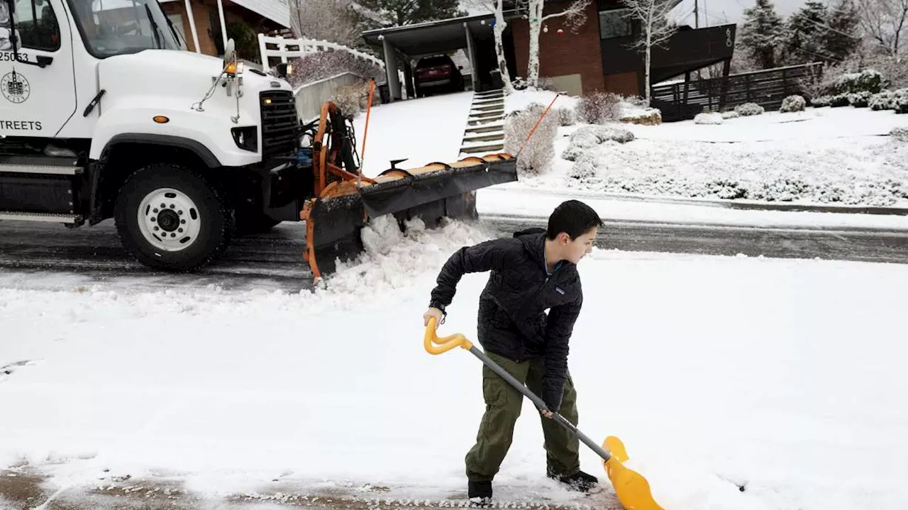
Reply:
M495 373L507 380L513 387L518 388L520 393L532 400L533 404L536 404L536 407L548 411L548 407L546 406L546 403L542 401L542 398L534 395L533 392L529 391L529 389L523 385L523 383L514 378L514 376L508 374L504 368L498 366L498 363L492 361L484 352L473 347L473 343L466 337L460 333L456 333L454 335L449 335L448 337L439 338L435 332L435 318L429 319L429 326L426 327L423 345L429 354L441 354L452 348L458 347L469 350L469 352L482 360L489 368L495 370ZM663 510L661 506L656 504L656 500L653 499L646 478L633 469L629 469L621 464L627 460L627 452L620 439L615 436L607 436L602 446L599 446L586 434L577 430L577 427L574 427L567 418L562 417L560 414L552 413L551 419L557 421L562 427L567 428L572 434L576 435L580 441L583 441L583 444L592 448L598 456L602 457L602 463L606 468L608 479L612 481L612 486L615 487L615 493L622 506L627 510Z

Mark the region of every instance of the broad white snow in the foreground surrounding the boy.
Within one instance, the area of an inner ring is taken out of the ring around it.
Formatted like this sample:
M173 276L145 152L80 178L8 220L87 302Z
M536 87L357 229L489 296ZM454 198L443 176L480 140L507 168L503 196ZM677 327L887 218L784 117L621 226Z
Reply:
M486 234L411 235L367 235L370 258L314 295L0 289L0 466L212 495L275 478L462 493L481 365L426 353L420 315L442 261ZM600 250L580 270L580 429L621 437L663 506L908 506L908 267ZM461 281L442 334L476 338L484 283ZM583 505L545 478L525 404L499 500Z

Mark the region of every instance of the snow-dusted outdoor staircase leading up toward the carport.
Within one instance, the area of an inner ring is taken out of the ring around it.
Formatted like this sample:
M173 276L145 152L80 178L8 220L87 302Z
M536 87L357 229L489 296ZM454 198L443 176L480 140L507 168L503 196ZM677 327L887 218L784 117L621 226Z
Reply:
M503 152L504 114L505 98L501 90L474 93L467 128L463 133L463 141L460 142L459 157Z

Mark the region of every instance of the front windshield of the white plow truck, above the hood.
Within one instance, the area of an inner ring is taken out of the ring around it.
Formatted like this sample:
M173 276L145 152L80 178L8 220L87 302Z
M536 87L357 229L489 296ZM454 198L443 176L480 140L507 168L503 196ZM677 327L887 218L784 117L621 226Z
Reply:
M142 50L184 50L157 0L70 0L88 51L98 58Z

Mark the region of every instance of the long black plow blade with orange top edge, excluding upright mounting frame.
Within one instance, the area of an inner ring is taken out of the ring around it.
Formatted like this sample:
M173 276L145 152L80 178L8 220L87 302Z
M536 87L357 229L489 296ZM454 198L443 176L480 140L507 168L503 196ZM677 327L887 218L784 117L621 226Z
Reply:
M338 260L360 254L360 230L370 218L393 214L398 221L419 218L429 227L442 218L473 220L477 190L517 180L517 160L493 154L415 170L393 169L360 188L337 182L321 198L307 201L301 212L307 222L304 258L319 280L336 270Z

